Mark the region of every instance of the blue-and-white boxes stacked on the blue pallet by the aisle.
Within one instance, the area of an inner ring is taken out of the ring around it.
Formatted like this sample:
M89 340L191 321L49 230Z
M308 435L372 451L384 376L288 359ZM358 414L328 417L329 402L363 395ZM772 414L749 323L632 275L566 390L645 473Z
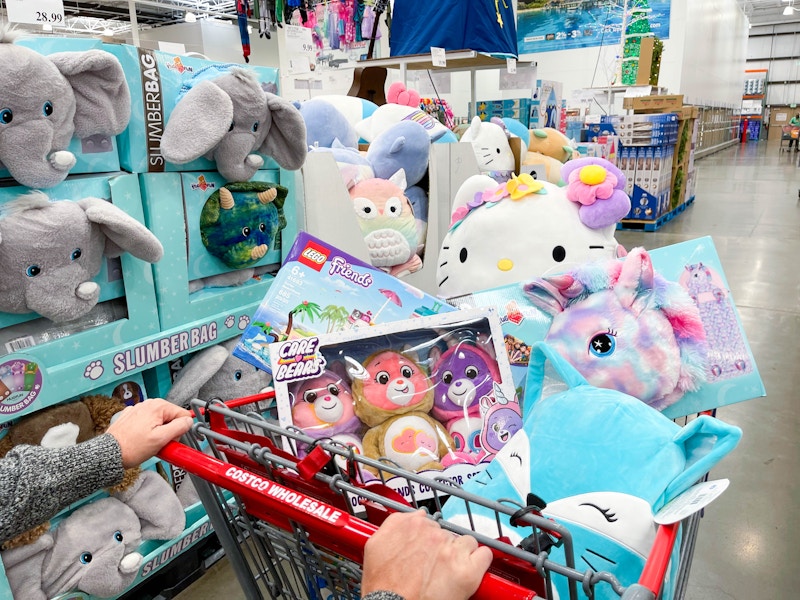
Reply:
M608 135L619 137L617 162L631 197L626 219L656 220L669 212L678 115L603 116L599 123L589 125L589 131L592 141Z

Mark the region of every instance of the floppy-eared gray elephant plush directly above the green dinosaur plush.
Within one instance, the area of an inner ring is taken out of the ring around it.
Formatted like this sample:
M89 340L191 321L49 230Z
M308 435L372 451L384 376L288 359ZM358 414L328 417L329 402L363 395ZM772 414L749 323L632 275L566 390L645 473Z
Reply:
M232 68L193 84L178 100L164 128L161 154L183 164L205 156L229 181L247 181L272 156L284 169L306 159L306 129L288 101L265 92L256 76Z

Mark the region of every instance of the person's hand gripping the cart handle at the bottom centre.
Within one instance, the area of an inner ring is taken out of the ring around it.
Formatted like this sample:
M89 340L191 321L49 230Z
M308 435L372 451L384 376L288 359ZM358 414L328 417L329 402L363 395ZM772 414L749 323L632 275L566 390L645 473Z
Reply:
M362 596L388 591L405 600L466 600L478 589L492 551L445 531L418 510L394 513L367 540Z

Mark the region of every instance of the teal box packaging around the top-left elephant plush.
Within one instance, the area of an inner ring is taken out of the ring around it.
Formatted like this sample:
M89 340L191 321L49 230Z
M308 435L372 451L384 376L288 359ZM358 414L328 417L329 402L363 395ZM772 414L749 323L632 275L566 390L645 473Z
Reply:
M60 37L23 37L15 42L35 50L45 56L55 52L85 52L87 50L103 50L99 40L89 38L60 38ZM72 138L66 148L75 155L75 166L69 171L70 175L82 173L111 173L119 171L119 154L114 136L92 136L80 140ZM0 178L8 178L7 169L0 168Z

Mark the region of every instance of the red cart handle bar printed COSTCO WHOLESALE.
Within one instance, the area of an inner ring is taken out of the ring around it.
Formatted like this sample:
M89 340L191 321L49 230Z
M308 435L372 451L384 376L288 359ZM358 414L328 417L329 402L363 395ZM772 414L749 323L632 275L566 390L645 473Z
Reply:
M246 511L287 531L299 523L309 539L358 563L364 545L378 528L317 498L268 479L243 467L222 462L178 442L168 443L159 458L237 494ZM532 600L535 592L493 573L484 575L475 600Z

